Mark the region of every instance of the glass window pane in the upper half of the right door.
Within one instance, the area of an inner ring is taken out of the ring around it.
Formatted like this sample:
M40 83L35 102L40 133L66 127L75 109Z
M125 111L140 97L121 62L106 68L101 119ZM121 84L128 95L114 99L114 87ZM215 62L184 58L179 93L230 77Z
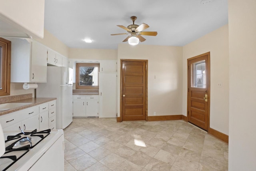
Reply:
M191 66L192 70L192 85L191 87L206 87L205 60L195 62Z

